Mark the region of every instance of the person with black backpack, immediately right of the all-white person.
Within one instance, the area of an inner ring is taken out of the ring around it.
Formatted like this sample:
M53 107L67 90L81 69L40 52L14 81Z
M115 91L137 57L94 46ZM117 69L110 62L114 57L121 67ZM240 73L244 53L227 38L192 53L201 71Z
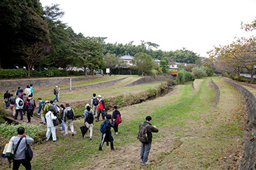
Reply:
M69 103L66 103L66 109L64 110L64 123L65 123L65 134L68 136L68 127L71 129L72 136L73 133L73 119L75 118L75 111L70 107Z

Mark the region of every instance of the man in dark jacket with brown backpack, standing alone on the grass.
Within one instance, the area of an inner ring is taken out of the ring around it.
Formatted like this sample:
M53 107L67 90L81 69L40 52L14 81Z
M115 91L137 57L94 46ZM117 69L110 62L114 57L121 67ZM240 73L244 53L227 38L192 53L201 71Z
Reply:
M145 121L139 125L138 140L141 141L141 163L150 164L148 155L152 143L152 132L158 132L155 125L151 125L151 116L145 117Z

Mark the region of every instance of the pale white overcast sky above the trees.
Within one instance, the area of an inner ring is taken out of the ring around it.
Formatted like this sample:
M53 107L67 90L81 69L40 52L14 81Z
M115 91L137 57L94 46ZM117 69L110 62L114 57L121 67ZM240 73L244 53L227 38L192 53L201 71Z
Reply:
M59 4L62 22L84 36L134 45L154 42L163 51L186 49L208 57L213 46L229 45L235 37L256 36L241 22L256 17L256 0L40 0Z

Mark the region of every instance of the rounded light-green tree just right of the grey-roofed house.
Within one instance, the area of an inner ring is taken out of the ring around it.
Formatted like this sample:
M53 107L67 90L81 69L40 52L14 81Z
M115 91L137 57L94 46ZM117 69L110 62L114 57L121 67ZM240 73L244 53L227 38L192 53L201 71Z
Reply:
M138 68L138 70L141 70L142 76L152 74L154 62L152 61L152 57L150 55L139 52L134 56L132 63L136 65L136 68Z

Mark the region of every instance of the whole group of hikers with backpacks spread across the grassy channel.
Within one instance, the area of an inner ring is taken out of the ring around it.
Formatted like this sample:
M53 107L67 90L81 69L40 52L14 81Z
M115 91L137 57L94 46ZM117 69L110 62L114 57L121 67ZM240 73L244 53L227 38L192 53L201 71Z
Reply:
M29 89L30 91L29 91ZM56 98L54 100L51 100L50 102L48 100L43 101L41 98L38 98L38 115L41 114L41 123L47 125L47 132L45 134L46 141L50 139L50 134L52 133L52 141L57 141L56 137L56 129L54 125L54 121L57 119L57 114L59 113L61 116L62 121L62 127L59 127L61 130L65 130L65 135L68 136L68 127L71 129L72 136L74 135L74 127L73 127L73 120L75 118L75 112L70 107L69 103L66 103L65 107L64 105L57 105L55 104L55 100L59 102L59 90L60 88L58 86L55 86L54 93L56 95ZM27 118L28 123L30 123L31 116L33 116L34 108L36 107L36 102L33 98L33 84L30 86L27 86L27 88L24 89L26 91L23 93L22 89L20 87L17 89L17 92L15 95L17 97L14 97L13 94L6 93L4 94L5 102L7 101L6 98L8 98L8 105L6 105L6 108L10 107L10 109L15 110L13 111L13 117L17 119L17 115L20 112L20 119L22 120L22 111L27 111ZM96 97L97 96L97 97ZM25 102L26 101L26 102ZM33 109L31 109L31 106ZM14 108L14 109L13 109ZM114 106L113 114L107 114L105 109L105 103L104 100L101 98L101 95L93 94L93 98L91 100L90 105L85 105L85 111L84 111L84 125L87 127L87 134L86 137L90 140L92 140L92 129L94 125L94 118L96 118L96 121L99 121L100 116L102 118L102 121L104 121L106 132L102 133L101 136L101 143L99 144L99 150L102 150L103 144L106 142L108 146L108 142L111 143L111 150L116 150L114 148L113 144L113 136L111 134L111 127L113 127L114 135L118 136L118 123L115 123L118 116L121 116L120 111L118 111L118 107ZM42 113L41 113L42 111ZM15 114L14 114L15 113ZM150 116L147 116L145 118L145 121L139 125L139 131L143 131L143 133L146 136L146 140L140 140L141 141L141 163L143 164L150 164L148 162L148 155L150 153L151 148L151 142L152 142L152 132L158 132L157 127L154 125L151 125L152 118ZM101 126L102 126L101 124ZM145 132L144 132L145 131ZM22 137L26 137L26 134L24 134L24 128L19 127L17 130L17 137L15 138L15 142L13 142L14 145L17 146L17 141L19 139L22 140ZM29 142L32 142L33 139L30 137L27 137L29 139ZM138 138L139 139L139 138ZM22 144L22 142L21 142ZM13 168L20 167L20 164L23 164L26 169L31 169L30 162L26 162L24 160L23 150L20 151L20 156L15 156L15 161L13 164ZM17 155L17 154L16 154Z

